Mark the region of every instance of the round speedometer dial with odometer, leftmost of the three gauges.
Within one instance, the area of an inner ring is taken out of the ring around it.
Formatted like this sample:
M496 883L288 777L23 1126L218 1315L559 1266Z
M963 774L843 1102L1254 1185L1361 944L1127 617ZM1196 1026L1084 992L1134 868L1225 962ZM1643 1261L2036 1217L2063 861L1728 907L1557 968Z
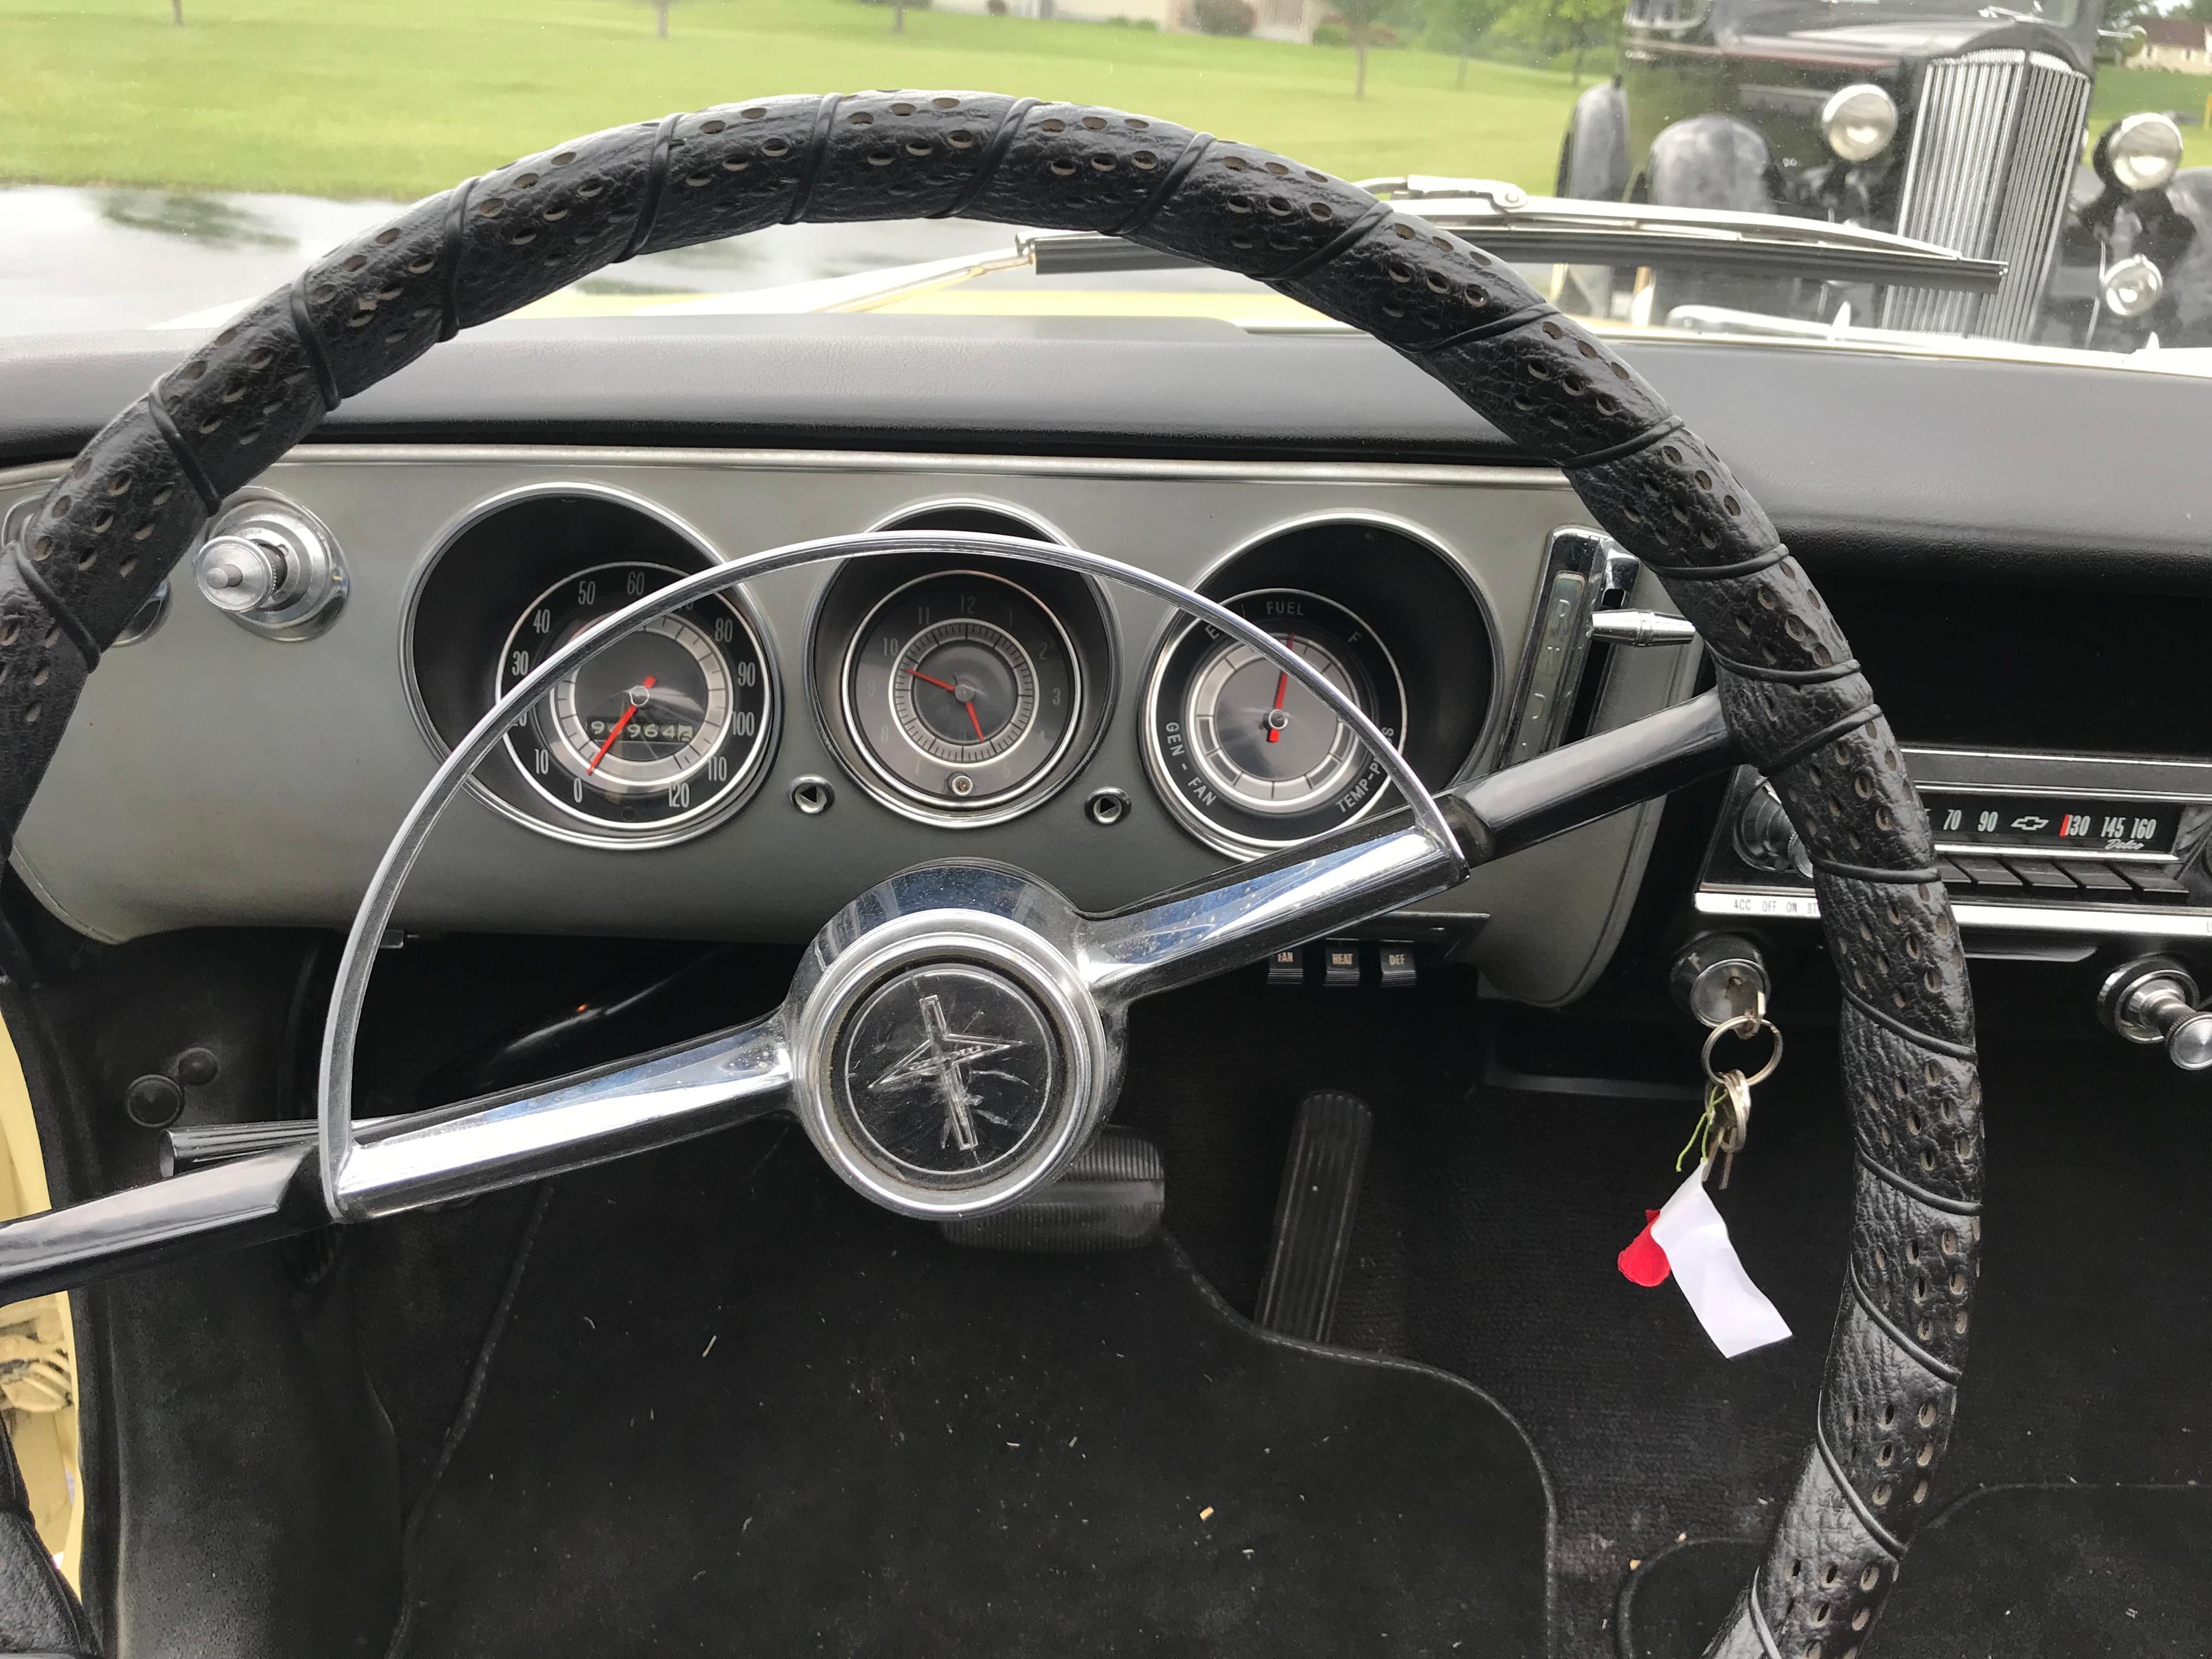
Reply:
M562 577L507 635L498 695L546 653L677 575L628 562ZM745 613L710 595L553 681L507 732L507 750L562 814L599 832L659 838L752 792L768 761L772 697L768 659Z

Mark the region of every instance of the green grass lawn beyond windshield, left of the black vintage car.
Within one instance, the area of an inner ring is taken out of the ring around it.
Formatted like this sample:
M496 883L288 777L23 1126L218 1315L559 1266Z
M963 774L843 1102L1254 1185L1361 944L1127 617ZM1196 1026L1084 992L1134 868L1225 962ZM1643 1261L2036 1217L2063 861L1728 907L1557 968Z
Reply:
M964 86L1190 122L1345 177L1548 190L1566 75L856 0L0 0L0 179L411 199L577 133L739 97Z

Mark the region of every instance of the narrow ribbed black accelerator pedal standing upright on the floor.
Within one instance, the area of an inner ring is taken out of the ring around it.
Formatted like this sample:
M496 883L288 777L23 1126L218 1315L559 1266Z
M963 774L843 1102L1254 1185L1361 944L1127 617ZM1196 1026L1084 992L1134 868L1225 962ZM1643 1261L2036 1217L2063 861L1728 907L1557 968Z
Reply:
M1254 1314L1267 1329L1307 1343L1329 1340L1371 1139L1374 1113L1358 1095L1316 1088L1298 1102L1283 1190L1274 1201L1274 1250Z

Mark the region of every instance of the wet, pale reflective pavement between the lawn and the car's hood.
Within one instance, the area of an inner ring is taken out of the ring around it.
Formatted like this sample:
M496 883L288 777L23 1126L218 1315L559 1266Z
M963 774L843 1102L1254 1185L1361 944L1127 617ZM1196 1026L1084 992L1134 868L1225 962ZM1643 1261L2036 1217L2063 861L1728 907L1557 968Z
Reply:
M316 254L387 219L392 201L0 188L0 334L212 327ZM962 221L776 226L737 241L633 259L546 310L599 296L730 294L1004 248L1013 232Z

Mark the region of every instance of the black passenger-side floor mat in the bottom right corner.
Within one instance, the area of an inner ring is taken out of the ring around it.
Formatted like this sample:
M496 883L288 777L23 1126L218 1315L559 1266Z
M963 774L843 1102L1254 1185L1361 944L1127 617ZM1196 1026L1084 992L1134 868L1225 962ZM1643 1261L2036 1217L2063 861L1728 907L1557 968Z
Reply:
M1621 1595L1624 1659L1697 1659L1756 1548L1703 1542ZM1865 1659L2212 1652L2212 1489L1993 1486L1929 1522Z

